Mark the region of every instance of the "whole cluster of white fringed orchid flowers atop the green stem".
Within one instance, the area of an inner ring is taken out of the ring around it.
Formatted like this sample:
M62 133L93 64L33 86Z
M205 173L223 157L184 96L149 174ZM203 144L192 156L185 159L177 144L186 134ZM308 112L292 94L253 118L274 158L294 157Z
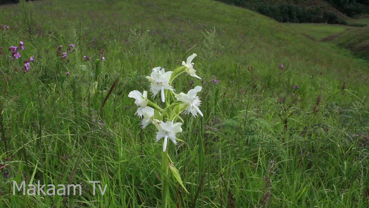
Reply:
M174 71L165 71L162 67L155 67L152 69L150 76L146 78L150 81L150 91L154 96L159 94L161 96L161 101L166 103L166 108L162 109L159 105L151 102L147 98L147 91L141 93L138 90L133 90L128 94L128 97L135 99L135 104L138 109L135 115L141 118L141 128L147 127L149 124L154 124L158 129L156 133L155 142L164 138L163 142L163 152L166 151L166 146L168 144L168 138L177 144L176 134L182 132L182 123L175 123L175 120L179 118L179 114L184 111L184 113L191 113L194 117L201 113L199 106L201 101L197 96L197 93L202 90L201 86L196 86L194 89L189 90L187 94L179 93L176 94L171 86L173 80L182 73L187 73L192 77L201 79L196 75L196 70L194 70L192 60L196 57L196 54L192 54L187 58L187 62L182 62L182 66L176 68ZM173 103L169 104L170 95L173 94L177 99ZM166 122L164 122L166 120ZM182 120L183 122L183 120Z

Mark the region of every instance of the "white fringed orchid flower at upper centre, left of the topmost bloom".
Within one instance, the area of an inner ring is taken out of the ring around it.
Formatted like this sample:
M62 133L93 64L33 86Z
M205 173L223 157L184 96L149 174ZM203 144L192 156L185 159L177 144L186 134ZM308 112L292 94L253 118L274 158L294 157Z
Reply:
M146 77L146 79L151 82L150 88L154 96L161 91L161 99L163 103L165 102L164 89L173 91L173 87L169 85L172 73L173 71L165 72L165 69L162 67L155 67L152 69L151 77Z

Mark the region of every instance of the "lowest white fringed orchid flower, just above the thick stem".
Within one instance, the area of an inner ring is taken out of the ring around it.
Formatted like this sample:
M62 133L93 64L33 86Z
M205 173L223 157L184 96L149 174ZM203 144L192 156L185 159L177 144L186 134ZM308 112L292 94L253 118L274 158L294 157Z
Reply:
M176 134L182 132L182 123L174 123L174 120L172 120L172 122L167 121L164 123L163 121L159 121L157 119L154 119L152 123L158 129L158 132L156 133L155 143L161 140L161 138L164 138L163 152L165 152L166 150L168 138L172 140L174 144L177 144Z

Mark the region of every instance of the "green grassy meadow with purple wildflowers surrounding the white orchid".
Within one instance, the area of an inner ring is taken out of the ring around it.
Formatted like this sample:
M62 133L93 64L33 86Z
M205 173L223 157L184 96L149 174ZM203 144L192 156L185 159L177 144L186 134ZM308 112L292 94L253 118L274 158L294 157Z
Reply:
M175 88L202 86L204 116L182 114L183 142L168 143L189 192L170 178L169 207L369 206L369 64L321 42L358 28L210 0L41 0L0 7L0 26L1 208L160 207L162 145L128 93L193 53L202 80ZM83 192L13 195L13 181Z

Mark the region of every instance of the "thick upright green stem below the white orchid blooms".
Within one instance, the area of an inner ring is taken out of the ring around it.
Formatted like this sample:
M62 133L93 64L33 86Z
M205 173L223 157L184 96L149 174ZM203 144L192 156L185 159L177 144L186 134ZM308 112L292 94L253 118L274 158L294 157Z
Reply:
M168 151L168 148L167 148ZM168 173L169 173L169 161L168 154L162 151L162 162L161 162L161 180L162 180L162 206L161 208L168 207L168 199L169 199L169 181L168 181Z

